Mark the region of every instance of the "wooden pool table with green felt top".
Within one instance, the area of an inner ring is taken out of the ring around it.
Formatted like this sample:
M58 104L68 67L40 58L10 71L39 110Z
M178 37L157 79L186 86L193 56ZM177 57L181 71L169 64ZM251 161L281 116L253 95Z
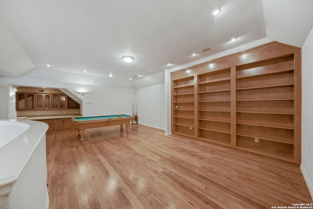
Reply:
M126 131L129 132L129 124L134 116L113 115L113 116L94 116L94 117L72 117L75 132L78 129L80 140L84 140L86 129L101 128L106 126L120 125L123 130L123 124L126 125Z

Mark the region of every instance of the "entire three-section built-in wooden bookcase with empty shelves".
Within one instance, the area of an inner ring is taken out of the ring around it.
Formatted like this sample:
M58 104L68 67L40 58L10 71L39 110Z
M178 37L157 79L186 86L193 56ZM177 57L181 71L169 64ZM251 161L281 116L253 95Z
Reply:
M300 48L272 42L171 78L173 134L301 163Z

